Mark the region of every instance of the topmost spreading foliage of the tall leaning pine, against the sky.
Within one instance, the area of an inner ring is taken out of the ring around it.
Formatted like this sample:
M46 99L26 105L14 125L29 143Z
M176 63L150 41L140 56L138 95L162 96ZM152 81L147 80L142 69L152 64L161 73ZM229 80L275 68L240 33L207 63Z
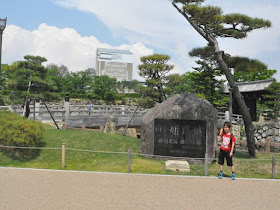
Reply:
M203 1L174 0L173 6L179 9L176 3L182 3L181 13L193 26L199 28L199 31L202 32L200 34L206 39L217 37L242 39L252 30L271 26L271 22L268 20L252 18L243 14L223 15L220 7L202 6L201 2Z

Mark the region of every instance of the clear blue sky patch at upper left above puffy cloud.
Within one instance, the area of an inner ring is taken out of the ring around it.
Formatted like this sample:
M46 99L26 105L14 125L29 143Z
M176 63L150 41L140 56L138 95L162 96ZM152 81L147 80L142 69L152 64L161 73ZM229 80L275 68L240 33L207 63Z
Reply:
M122 44L125 40L114 38L106 25L90 12L65 8L53 0L1 0L1 18L8 24L28 30L37 29L41 23L58 28L74 28L82 36L96 36L101 42Z

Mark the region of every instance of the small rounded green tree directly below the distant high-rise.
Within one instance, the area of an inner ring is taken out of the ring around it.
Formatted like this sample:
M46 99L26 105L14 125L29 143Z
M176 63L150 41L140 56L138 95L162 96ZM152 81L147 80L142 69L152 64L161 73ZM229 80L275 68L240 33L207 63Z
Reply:
M104 100L106 103L114 102L117 95L117 80L107 75L95 76L92 89L94 99Z

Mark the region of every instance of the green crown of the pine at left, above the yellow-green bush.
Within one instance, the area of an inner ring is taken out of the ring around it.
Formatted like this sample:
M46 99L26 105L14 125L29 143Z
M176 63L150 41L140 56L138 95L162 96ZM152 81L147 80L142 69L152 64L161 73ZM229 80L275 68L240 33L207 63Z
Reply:
M7 65L5 88L14 93L6 101L22 103L25 97L41 97L45 100L58 100L58 94L62 89L63 81L59 80L55 70L45 68L42 63L47 61L40 56L24 56L24 61ZM29 89L30 84L30 89ZM29 93L27 90L29 89Z

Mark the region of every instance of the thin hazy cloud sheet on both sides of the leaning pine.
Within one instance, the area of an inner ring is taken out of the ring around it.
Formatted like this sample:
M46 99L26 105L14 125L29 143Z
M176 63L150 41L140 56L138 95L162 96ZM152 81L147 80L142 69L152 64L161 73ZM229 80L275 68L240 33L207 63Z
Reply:
M205 46L206 42L191 28L168 0L54 0L69 8L91 12L108 26L115 36L130 42L162 49L171 55L176 69L181 72L191 70L193 59L187 52L194 47ZM225 39L221 49L240 56L258 58L266 62L265 52L279 54L280 3L278 0L208 0L205 4L222 7L225 13L243 13L252 17L270 19L272 29L256 30L244 40ZM280 61L275 57L267 63L278 68ZM280 72L278 70L278 77Z

